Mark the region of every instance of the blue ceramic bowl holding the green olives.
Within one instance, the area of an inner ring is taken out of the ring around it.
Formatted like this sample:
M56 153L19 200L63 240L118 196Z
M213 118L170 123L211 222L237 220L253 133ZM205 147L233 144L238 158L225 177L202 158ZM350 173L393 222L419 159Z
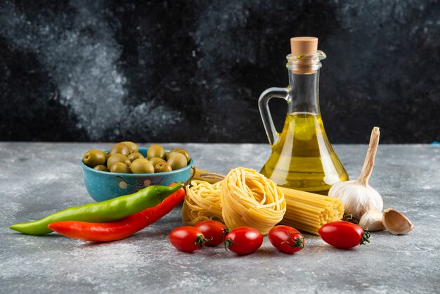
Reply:
M145 156L148 148L139 148ZM105 151L108 152L108 151ZM191 176L193 159L186 167L172 172L155 174L121 174L117 172L102 172L84 165L81 160L84 184L93 200L100 202L115 197L135 193L147 186L168 186L175 182L187 181Z

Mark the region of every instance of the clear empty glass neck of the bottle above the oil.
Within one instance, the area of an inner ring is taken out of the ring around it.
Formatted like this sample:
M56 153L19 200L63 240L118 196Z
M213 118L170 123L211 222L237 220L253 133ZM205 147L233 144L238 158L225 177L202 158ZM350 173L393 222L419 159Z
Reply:
M289 70L288 113L312 113L319 110L319 70L308 75L298 75Z

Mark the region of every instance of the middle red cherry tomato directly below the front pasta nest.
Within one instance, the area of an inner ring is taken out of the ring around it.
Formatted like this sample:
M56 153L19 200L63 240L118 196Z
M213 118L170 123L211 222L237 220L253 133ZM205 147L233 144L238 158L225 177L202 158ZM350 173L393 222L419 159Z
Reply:
M224 246L238 255L253 253L263 243L261 233L249 226L239 226L225 236Z

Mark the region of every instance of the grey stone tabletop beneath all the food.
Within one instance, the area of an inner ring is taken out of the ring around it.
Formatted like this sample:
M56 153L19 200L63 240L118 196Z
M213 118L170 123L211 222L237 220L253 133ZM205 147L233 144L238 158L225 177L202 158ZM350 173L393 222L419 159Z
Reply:
M146 146L145 144L141 144ZM439 293L440 147L380 146L370 184L385 207L415 224L405 236L374 233L371 243L338 250L306 234L306 248L278 253L267 237L252 255L223 248L181 253L168 234L181 207L123 241L86 243L57 234L8 229L66 207L91 202L79 158L110 143L0 143L0 293ZM176 144L164 144L172 148ZM179 144L203 170L255 170L266 144ZM365 145L335 146L355 178Z

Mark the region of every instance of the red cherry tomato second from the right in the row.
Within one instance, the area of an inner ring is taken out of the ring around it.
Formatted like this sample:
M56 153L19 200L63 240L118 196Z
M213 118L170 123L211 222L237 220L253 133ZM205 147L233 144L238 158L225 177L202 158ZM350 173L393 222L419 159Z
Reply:
M269 241L283 253L294 253L304 248L304 236L292 226L274 226Z

